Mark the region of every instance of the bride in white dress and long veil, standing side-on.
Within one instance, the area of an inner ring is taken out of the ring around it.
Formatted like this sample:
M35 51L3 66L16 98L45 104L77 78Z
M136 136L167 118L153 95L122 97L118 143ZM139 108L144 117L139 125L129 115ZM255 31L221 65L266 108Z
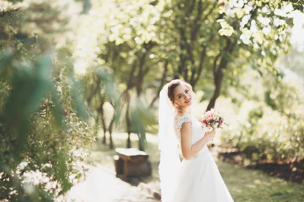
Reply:
M194 92L185 81L175 79L160 92L159 174L163 202L233 201L207 142L215 130L206 131L192 114ZM183 160L180 162L177 144Z

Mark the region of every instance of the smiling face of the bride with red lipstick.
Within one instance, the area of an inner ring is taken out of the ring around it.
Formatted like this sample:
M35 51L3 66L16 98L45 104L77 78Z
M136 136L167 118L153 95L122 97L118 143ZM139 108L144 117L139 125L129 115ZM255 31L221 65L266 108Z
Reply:
M173 90L173 94L174 94L174 103L176 103L177 106L186 108L192 105L193 94L191 90L189 90L188 87L185 86L184 84L176 86Z

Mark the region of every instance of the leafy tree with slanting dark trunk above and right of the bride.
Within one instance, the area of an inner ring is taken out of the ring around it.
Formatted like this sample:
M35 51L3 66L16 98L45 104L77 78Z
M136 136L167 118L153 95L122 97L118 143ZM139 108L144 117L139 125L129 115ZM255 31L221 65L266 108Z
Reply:
M201 0L168 4L161 20L167 25L162 31L173 39L169 44L177 46L174 78L183 78L196 88L202 73L207 75L204 78L212 76L215 90L209 110L220 94L223 79L232 74L229 78L233 80L244 68L242 64L252 63L260 73L278 74L273 64L279 49L288 50L288 29L292 26L292 8L279 10L282 5L287 4Z

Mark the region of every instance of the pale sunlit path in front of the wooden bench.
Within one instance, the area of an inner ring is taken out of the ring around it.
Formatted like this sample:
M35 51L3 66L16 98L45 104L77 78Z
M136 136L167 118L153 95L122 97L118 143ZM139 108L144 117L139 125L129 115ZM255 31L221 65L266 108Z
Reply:
M66 195L75 202L152 202L160 201L139 187L117 178L115 173L91 167L85 181L73 186Z

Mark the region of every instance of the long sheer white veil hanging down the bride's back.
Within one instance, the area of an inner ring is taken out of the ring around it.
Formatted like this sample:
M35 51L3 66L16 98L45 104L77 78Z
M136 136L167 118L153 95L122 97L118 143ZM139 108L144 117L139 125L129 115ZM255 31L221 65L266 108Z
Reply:
M180 166L178 155L178 140L173 128L173 107L168 97L167 83L160 92L159 104L159 149L161 158L159 164L160 187L162 202L169 202L176 185L177 172Z

